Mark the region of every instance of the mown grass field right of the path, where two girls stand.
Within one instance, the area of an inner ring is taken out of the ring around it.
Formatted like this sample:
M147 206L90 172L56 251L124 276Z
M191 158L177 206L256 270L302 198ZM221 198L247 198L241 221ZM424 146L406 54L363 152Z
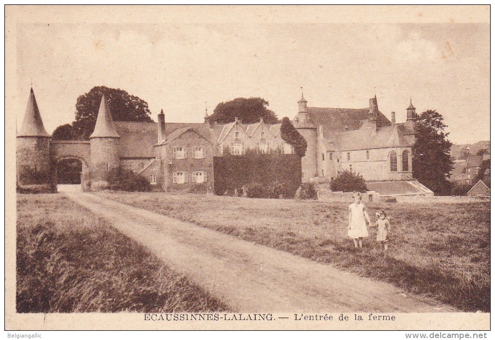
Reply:
M364 249L347 237L352 203L194 194L99 192L135 207L433 297L462 311L490 312L490 203L366 204L392 222L388 256L370 230Z

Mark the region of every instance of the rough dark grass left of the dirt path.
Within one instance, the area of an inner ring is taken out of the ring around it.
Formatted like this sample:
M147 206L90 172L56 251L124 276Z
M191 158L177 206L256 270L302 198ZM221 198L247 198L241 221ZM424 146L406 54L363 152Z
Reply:
M59 194L18 195L17 312L229 310Z

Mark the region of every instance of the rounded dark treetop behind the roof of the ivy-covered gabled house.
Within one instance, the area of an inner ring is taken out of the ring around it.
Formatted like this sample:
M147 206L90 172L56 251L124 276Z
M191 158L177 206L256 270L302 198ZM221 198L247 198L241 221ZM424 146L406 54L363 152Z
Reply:
M245 123L258 122L260 118L267 124L279 122L277 115L267 109L268 102L262 98L236 98L229 102L219 103L210 119L220 124L233 122L236 117Z

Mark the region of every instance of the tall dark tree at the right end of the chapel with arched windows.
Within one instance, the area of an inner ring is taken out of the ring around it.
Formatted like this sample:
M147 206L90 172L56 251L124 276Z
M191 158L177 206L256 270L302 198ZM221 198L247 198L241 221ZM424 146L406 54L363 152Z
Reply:
M449 195L447 177L453 169L452 143L447 139L442 114L436 110L421 113L416 120L416 141L412 146L413 176L436 195Z

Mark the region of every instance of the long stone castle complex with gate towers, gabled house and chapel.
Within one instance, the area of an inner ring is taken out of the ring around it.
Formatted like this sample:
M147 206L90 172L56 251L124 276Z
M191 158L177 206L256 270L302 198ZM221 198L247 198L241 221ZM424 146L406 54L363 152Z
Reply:
M301 181L331 181L350 170L361 174L368 187L380 185L385 191L400 187L402 191L397 194L432 195L412 178L415 110L410 102L407 120L396 123L395 113L389 120L379 111L376 96L365 109L311 108L301 97L292 120L308 145L301 159ZM198 184L212 189L215 157L225 153L245 155L246 150L294 154L294 146L281 137L280 123L266 124L261 119L245 124L236 118L228 124L217 124L207 113L203 123L173 123L166 121L163 111L157 120L114 122L103 96L89 141L54 141L43 126L31 90L17 135L18 184L39 183L41 177L35 180L33 176L40 171L45 182L52 181L50 172L56 173L57 162L74 158L82 163L84 190L105 187L105 174L118 167L145 176L163 190ZM393 182L388 188L387 183Z

